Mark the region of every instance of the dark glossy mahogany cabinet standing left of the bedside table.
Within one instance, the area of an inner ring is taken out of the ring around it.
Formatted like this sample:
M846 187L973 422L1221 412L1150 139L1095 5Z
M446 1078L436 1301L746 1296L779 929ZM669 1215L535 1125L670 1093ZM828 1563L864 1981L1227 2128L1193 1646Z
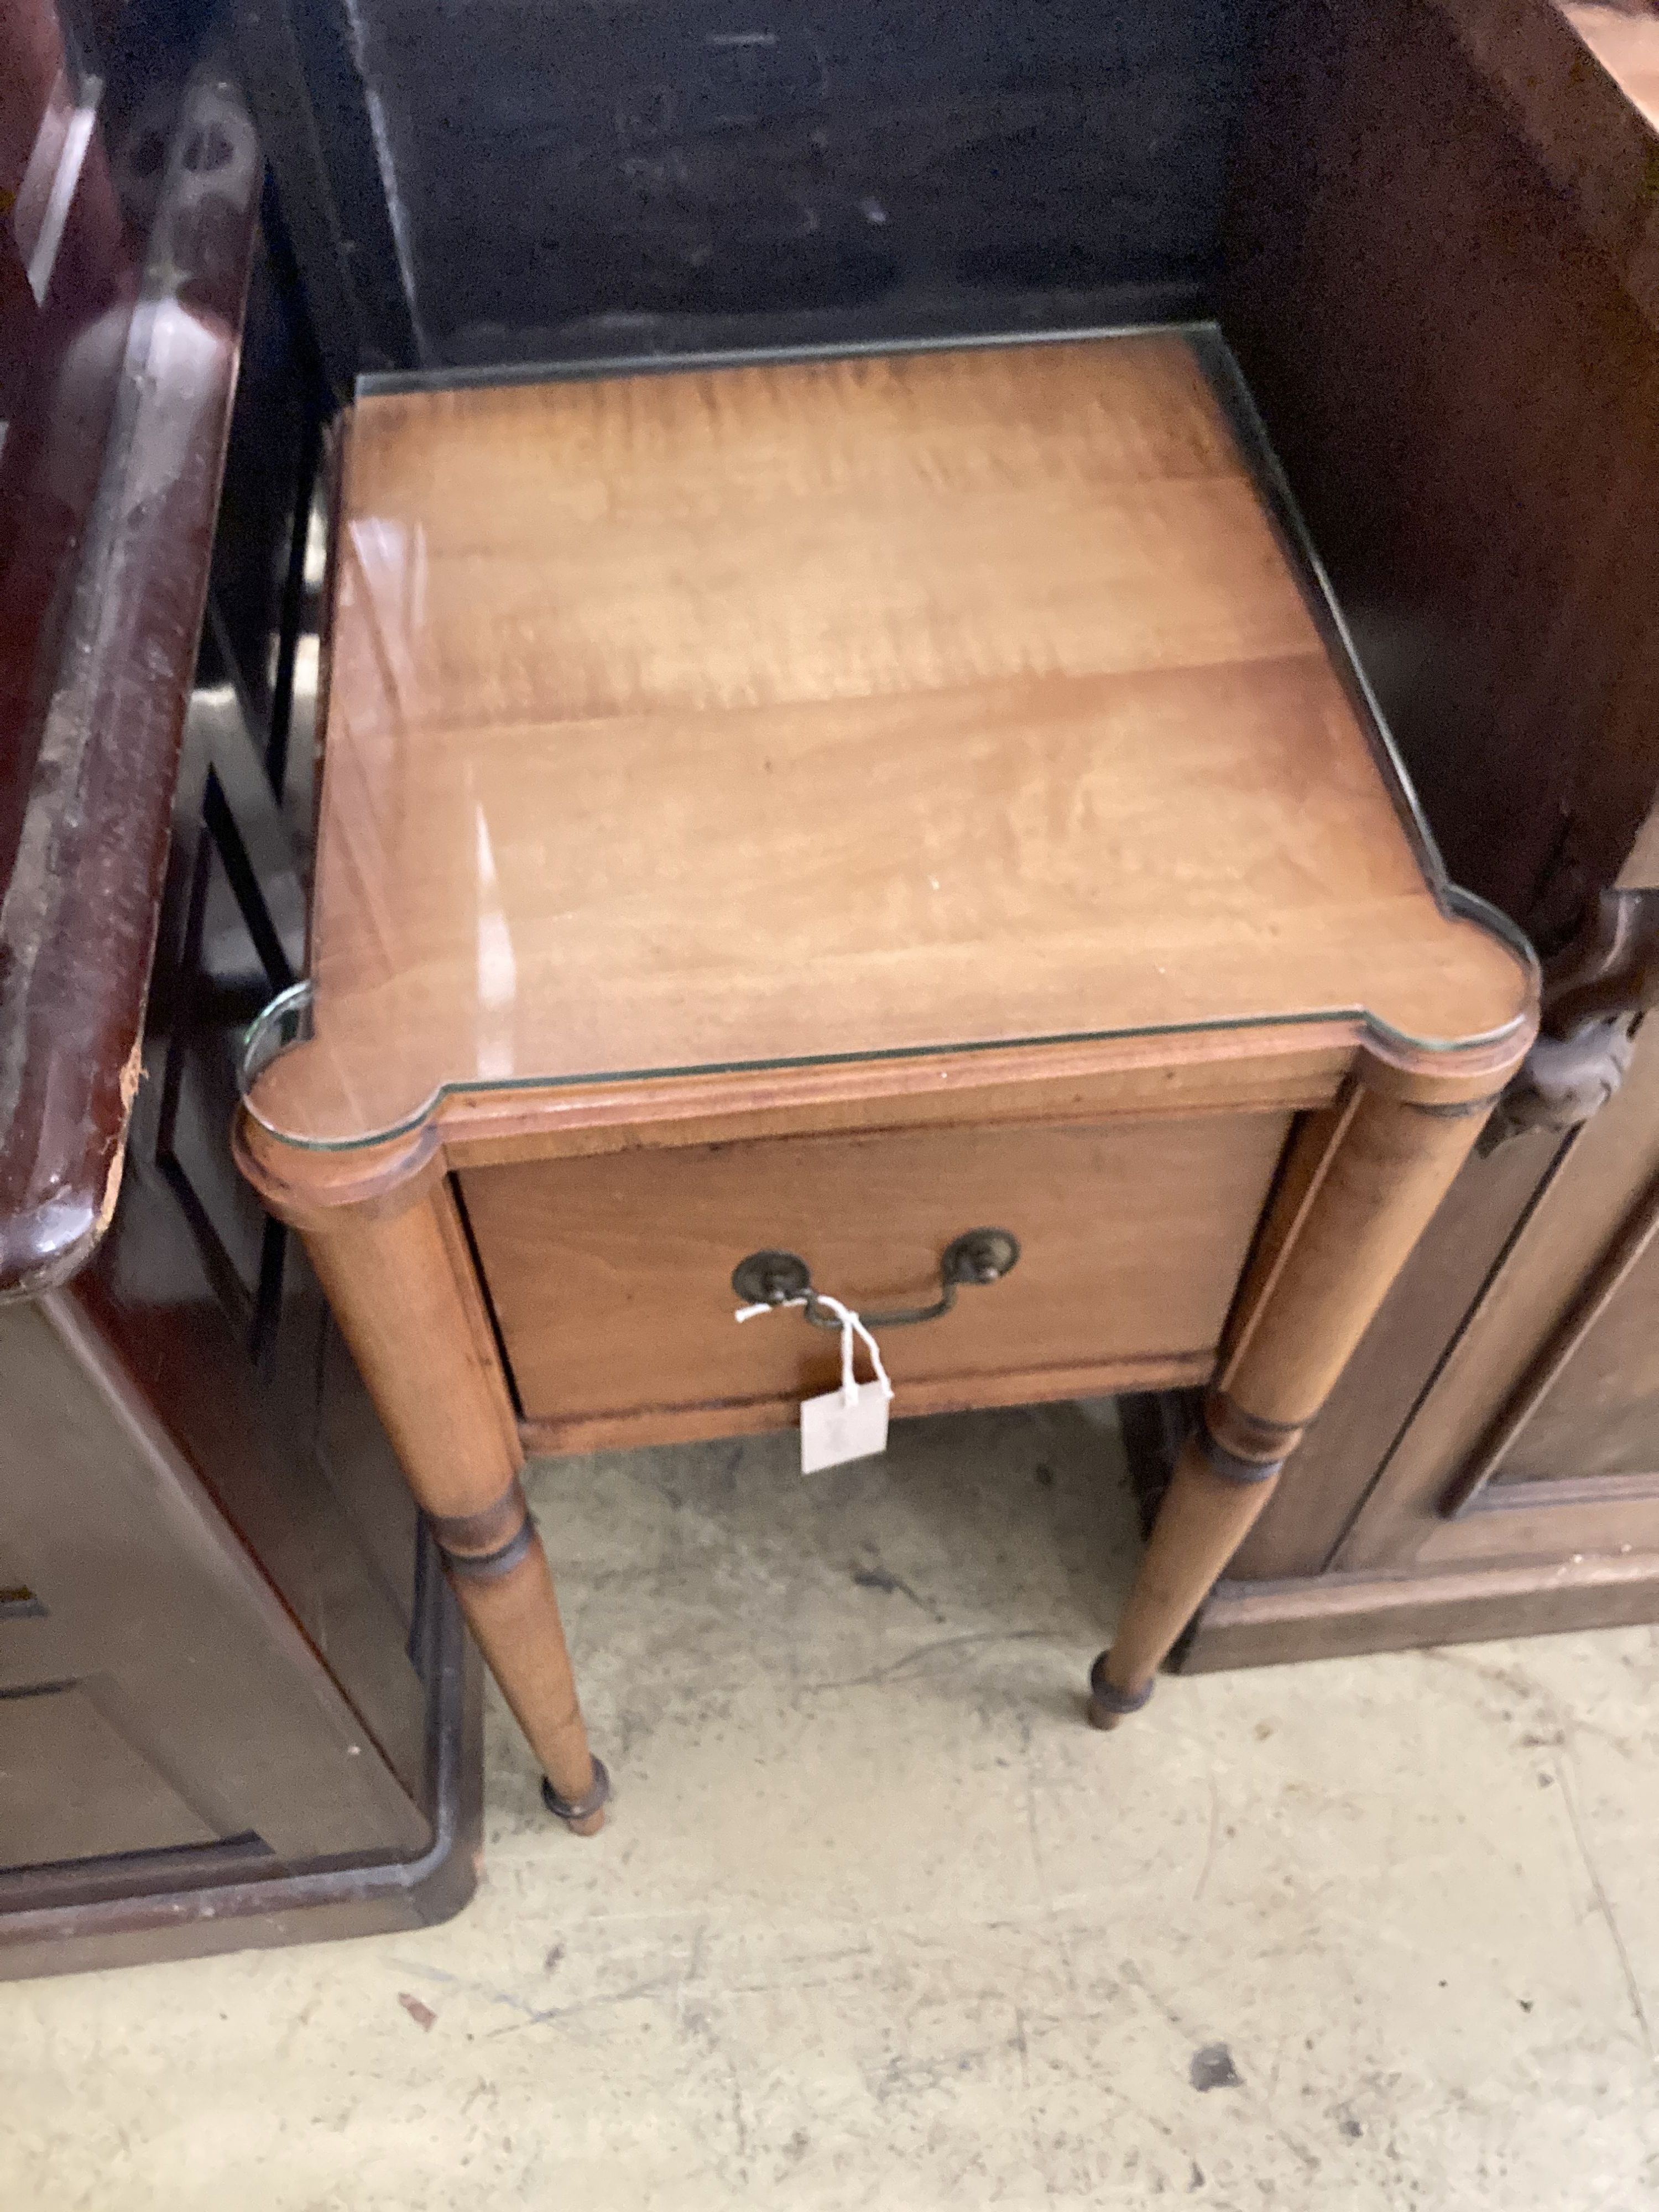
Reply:
M460 1617L228 1146L303 958L307 334L212 46L108 13L0 9L0 1978L442 1918L480 1818Z

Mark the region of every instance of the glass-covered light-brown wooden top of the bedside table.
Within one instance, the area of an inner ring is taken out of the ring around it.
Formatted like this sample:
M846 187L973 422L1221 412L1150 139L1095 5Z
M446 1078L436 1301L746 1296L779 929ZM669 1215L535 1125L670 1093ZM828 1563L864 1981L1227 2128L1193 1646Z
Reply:
M259 1117L1363 1009L1502 1031L1179 334L358 403Z

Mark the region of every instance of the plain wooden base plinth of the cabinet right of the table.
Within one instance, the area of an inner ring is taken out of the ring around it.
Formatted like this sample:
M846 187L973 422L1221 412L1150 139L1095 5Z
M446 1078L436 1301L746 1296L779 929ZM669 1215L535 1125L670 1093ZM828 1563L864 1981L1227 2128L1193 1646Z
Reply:
M1471 1573L1219 1582L1179 1672L1338 1659L1422 1644L1659 1621L1659 1553L1586 1555Z

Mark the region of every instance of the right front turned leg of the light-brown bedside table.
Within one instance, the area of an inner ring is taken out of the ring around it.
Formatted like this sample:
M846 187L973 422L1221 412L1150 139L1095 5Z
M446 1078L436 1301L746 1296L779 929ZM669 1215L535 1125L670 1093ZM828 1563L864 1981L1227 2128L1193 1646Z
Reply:
M1413 1106L1356 1084L1298 1130L1203 1420L1170 1478L1117 1637L1088 1677L1097 1728L1117 1728L1152 1694L1170 1646L1272 1498L1489 1106Z

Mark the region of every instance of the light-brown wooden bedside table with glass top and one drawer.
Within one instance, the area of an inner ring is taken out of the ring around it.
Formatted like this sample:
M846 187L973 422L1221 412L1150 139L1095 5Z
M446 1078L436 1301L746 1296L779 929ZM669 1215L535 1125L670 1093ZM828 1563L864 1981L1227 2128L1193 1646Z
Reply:
M332 591L239 1155L551 1809L606 1778L522 1451L794 1420L834 1338L732 1310L803 1279L898 1416L1210 1385L1091 1679L1144 1705L1535 1015L1221 341L367 398Z

